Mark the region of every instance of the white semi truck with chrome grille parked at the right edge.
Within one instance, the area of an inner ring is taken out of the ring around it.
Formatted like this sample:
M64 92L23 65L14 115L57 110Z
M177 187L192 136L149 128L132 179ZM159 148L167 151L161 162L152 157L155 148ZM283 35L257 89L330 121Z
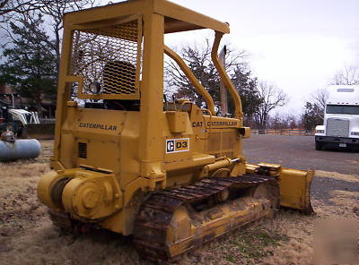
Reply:
M324 125L318 125L315 149L359 149L359 86L328 87Z

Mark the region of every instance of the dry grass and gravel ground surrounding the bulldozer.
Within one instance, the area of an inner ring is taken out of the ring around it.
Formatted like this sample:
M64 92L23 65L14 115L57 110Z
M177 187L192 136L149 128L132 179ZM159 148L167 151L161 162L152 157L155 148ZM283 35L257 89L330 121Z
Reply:
M180 264L313 264L317 221L359 219L359 154L315 151L312 141L311 137L255 135L245 141L244 150L250 162L315 168L311 191L315 215L281 210L275 220L237 230L189 252ZM49 170L52 149L52 141L41 143L39 158L0 164L0 264L151 264L138 257L130 237L104 230L65 235L52 226L36 198L36 185Z

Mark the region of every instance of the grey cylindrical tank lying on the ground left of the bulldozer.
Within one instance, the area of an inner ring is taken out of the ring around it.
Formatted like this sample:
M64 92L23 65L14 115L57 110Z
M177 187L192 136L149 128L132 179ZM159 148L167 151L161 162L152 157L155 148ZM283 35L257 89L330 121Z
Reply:
M13 142L0 141L0 161L37 158L40 150L41 145L35 139L21 139Z

